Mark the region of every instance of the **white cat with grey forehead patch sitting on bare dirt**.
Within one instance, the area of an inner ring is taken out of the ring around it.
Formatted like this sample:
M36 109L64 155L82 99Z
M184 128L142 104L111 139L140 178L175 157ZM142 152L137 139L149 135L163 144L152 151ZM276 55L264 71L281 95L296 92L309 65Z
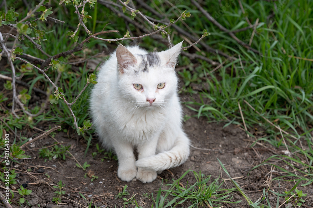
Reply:
M151 182L189 156L175 72L181 47L147 53L119 45L100 68L90 99L93 124L103 146L114 149L121 180Z

